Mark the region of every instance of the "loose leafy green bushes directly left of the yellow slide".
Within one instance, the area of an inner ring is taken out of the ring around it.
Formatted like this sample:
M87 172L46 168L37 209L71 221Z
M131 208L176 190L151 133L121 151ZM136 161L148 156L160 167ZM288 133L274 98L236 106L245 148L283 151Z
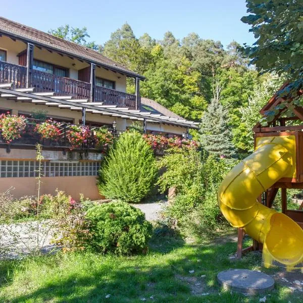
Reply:
M217 188L228 171L224 160L196 150L169 153L159 162L165 172L158 184L162 191L176 187L177 196L165 214L176 220L183 235L214 234L225 221L217 203Z

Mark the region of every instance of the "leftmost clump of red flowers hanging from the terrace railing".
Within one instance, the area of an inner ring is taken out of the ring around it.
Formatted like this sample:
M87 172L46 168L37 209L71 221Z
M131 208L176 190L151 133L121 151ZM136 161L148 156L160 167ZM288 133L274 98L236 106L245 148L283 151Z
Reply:
M21 137L21 130L26 126L24 116L11 115L10 113L0 115L1 135L7 143L11 143Z

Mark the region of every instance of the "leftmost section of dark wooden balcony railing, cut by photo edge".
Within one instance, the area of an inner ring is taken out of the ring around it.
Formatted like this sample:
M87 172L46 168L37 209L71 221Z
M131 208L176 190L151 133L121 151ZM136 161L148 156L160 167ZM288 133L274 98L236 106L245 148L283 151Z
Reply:
M26 87L26 67L0 61L0 83L13 83L13 89Z

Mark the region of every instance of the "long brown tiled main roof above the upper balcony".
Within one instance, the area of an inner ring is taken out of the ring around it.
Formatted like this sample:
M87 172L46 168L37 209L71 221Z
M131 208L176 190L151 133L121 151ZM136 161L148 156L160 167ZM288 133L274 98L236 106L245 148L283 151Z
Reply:
M141 79L144 78L143 76L125 68L121 64L114 62L113 60L101 55L96 51L93 51L93 49L87 48L74 42L66 41L51 34L44 33L40 30L8 20L3 17L0 17L0 33L1 32L4 34L11 34L16 38L23 38L26 41L36 43L40 46L45 46L47 48L55 49L59 52L66 53L83 60L88 60L97 65L107 67L115 71L120 71L129 76L139 77Z

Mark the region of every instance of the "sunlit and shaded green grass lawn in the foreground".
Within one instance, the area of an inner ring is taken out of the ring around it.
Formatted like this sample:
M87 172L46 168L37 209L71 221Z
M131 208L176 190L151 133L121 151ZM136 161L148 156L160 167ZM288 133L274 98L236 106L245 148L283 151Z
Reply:
M0 302L121 303L145 298L147 302L234 303L259 302L263 297L246 297L218 285L219 271L259 269L261 264L256 254L230 260L234 242L185 244L165 237L154 239L150 247L147 256L127 258L82 252L2 261ZM111 296L106 298L108 294ZM291 292L280 285L270 294L266 302L303 301L303 292Z

